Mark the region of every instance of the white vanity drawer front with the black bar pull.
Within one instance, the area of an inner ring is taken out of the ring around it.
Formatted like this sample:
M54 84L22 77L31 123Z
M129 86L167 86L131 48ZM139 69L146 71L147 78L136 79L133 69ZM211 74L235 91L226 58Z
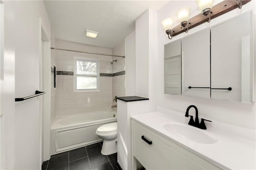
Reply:
M158 140L153 135L133 124L133 152L134 157L147 170L167 170L170 169L170 147ZM148 144L142 139L151 141Z

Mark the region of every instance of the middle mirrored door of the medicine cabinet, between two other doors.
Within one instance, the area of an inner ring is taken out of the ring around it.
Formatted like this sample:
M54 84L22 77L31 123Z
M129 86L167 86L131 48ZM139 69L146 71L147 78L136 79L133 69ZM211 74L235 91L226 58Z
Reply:
M186 36L181 41L183 94L210 99L210 28Z

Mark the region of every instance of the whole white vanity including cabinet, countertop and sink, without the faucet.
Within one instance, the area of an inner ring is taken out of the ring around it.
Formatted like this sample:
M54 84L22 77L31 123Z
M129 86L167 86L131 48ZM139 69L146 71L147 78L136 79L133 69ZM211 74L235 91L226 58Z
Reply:
M202 130L185 113L158 111L132 116L133 170L256 168L255 130L214 120Z

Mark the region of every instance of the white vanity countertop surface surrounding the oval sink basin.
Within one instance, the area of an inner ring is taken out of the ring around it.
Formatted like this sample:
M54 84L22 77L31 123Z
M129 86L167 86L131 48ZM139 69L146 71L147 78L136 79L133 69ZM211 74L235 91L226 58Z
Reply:
M175 114L178 113L177 111L173 112ZM184 113L178 114L184 115ZM188 119L186 119L186 117L181 119L181 117L175 117L171 114L167 115L160 112L152 112L134 115L132 116L132 119L161 136L168 138L172 142L186 148L201 158L204 158L219 168L242 170L256 169L255 141L232 135L225 130L213 128L208 124L209 127L206 125L207 130L197 129L214 136L218 141L213 144L195 143L191 140L185 140L184 138L172 135L164 128L164 125L169 123L182 123L187 125ZM214 121L212 124L214 124Z

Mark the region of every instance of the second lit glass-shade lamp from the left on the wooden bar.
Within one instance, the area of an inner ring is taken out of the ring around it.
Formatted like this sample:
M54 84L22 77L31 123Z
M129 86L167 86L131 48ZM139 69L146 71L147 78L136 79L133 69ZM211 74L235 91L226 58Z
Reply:
M184 7L176 13L176 16L180 21L180 25L184 28L184 32L188 32L188 24L189 24L188 16L189 16L190 10L191 10L190 7Z

